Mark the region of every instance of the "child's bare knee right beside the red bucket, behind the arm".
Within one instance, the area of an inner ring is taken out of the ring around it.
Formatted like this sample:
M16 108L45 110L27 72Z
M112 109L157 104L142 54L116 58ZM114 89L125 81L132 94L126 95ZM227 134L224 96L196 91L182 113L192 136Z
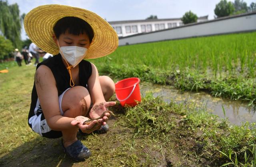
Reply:
M115 92L115 83L108 76L99 76L99 80L104 99L108 101Z

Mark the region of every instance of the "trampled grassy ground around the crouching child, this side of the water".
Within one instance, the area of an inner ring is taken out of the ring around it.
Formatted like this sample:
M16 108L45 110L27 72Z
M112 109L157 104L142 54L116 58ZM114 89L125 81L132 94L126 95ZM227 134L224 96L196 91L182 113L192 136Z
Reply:
M34 66L16 66L0 74L1 166L255 164L255 123L230 127L226 120L198 110L194 104L165 103L150 93L136 107L121 107L119 103L112 107L116 117L109 121L108 133L78 135L93 154L84 162L74 162L62 152L60 139L40 137L28 127L34 72Z

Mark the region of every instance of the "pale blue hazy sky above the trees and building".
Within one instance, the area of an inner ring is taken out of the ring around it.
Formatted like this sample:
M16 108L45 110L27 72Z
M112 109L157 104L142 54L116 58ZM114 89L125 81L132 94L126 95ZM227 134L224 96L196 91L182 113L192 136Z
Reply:
M232 2L234 0L231 0ZM8 0L17 3L20 15L45 4L62 4L90 10L107 21L142 20L150 15L162 18L181 18L191 10L198 17L214 19L214 8L220 0ZM256 0L244 0L249 6ZM22 29L22 40L28 38Z

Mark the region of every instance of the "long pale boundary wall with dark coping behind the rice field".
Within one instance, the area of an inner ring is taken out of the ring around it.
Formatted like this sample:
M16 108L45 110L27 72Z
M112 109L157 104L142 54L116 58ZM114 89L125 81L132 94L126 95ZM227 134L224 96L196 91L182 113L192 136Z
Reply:
M186 24L156 32L121 37L119 39L119 46L248 31L256 31L256 12Z

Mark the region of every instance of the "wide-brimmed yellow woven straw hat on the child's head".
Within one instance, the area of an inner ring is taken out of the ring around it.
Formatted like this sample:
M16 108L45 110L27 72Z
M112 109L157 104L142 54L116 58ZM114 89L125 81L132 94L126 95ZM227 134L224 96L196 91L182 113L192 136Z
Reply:
M56 55L59 48L52 39L53 27L64 17L77 17L92 27L94 38L85 59L111 54L118 47L118 36L110 24L94 12L65 5L43 5L31 10L24 19L24 28L30 40L42 50Z

